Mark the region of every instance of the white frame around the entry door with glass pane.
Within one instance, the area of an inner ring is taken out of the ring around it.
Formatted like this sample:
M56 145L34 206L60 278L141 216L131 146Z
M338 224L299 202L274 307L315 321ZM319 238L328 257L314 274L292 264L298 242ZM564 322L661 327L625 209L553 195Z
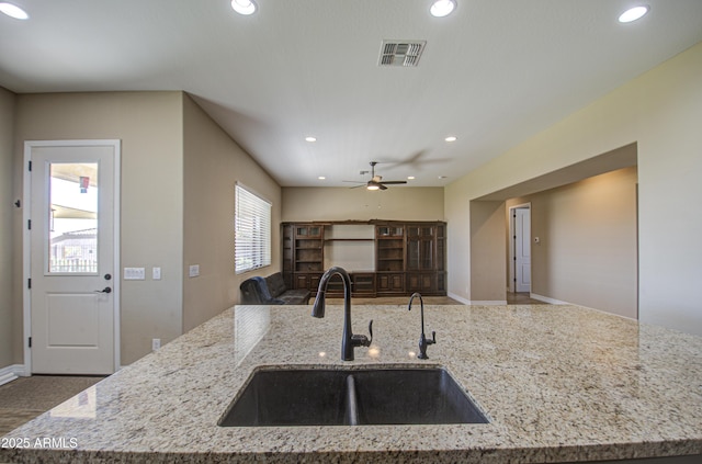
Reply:
M120 179L121 179L121 149L122 144L118 139L95 139L95 140L25 140L24 142L24 191L23 202L24 208L22 211L22 276L23 276L23 325L24 325L24 338L22 343L24 347L24 373L21 375L32 375L32 349L30 348L30 337L32 337L32 291L29 287L29 282L32 276L31 256L32 256L32 236L30 228L30 219L32 217L32 177L27 169L30 161L32 160L32 148L34 147L76 147L76 146L110 146L114 149L114 275L113 292L114 298L114 370L120 369Z

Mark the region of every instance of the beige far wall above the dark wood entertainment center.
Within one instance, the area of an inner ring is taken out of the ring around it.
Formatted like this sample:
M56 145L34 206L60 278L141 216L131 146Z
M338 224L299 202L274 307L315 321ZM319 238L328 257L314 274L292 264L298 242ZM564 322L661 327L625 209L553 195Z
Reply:
M389 186L375 192L362 188L283 188L283 222L443 220L443 210L441 188Z

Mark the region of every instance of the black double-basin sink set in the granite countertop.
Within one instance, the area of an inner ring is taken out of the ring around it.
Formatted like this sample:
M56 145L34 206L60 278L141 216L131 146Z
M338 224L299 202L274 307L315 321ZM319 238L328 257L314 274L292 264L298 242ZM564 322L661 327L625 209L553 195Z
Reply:
M487 423L453 377L431 369L262 369L222 427Z

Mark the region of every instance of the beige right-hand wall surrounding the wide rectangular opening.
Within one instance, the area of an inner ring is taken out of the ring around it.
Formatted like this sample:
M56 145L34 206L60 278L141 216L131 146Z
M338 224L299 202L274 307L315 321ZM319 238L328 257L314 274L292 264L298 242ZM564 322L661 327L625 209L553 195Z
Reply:
M471 299L473 291L464 265L471 262L471 200L636 142L639 319L702 333L695 294L702 215L690 211L702 197L700 76L702 43L448 185L450 294ZM505 274L491 279L503 282Z

